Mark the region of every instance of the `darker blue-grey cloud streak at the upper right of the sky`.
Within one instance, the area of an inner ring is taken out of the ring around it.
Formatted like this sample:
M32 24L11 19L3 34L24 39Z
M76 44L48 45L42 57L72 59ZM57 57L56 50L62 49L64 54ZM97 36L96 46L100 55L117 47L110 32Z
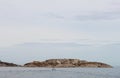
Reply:
M118 12L95 12L88 15L77 15L73 17L77 20L116 20L120 19L120 11Z

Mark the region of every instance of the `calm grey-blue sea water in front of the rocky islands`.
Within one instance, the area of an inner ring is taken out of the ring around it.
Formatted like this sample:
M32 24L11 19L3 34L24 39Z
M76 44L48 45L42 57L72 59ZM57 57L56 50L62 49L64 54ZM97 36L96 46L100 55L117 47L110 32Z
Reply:
M0 67L0 78L120 78L120 68Z

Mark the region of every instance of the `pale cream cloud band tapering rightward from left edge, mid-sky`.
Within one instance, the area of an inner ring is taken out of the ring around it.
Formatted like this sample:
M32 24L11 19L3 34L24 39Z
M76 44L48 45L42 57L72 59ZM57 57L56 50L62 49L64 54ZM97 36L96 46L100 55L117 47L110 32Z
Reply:
M66 41L88 39L87 33L70 32L69 30L52 27L10 26L0 27L0 46L9 46L24 42Z

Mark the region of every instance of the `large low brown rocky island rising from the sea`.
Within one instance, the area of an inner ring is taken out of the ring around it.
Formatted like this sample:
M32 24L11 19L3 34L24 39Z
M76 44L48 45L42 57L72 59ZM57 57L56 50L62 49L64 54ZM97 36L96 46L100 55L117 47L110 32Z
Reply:
M79 59L49 59L46 61L33 61L24 64L25 67L96 67L96 68L112 68L112 66L100 62L88 62Z

